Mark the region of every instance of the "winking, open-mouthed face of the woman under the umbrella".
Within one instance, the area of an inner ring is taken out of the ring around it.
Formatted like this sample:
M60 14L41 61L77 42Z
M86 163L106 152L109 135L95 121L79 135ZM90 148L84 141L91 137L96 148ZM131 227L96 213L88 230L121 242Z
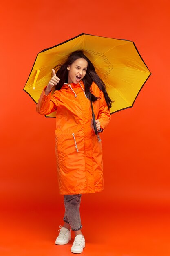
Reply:
M79 83L86 74L88 62L84 58L78 58L68 69L68 83Z

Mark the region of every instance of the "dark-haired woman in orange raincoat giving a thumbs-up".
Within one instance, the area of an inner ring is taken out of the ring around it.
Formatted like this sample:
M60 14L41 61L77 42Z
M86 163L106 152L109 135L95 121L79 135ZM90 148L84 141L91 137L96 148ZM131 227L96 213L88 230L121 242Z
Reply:
M65 214L55 244L68 243L73 230L75 239L71 252L81 253L85 247L79 213L81 196L104 189L102 144L94 132L90 94L98 134L110 121L112 101L93 64L82 51L73 52L55 70L52 69L53 76L36 108L42 115L56 111L58 184L60 195L64 195Z

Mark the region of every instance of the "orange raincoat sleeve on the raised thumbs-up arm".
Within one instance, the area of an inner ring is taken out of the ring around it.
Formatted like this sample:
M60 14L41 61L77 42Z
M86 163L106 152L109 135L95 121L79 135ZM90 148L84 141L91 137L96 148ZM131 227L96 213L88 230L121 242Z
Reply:
M48 95L45 95L45 89L46 87L43 89L36 107L36 111L41 115L48 115L55 112L58 107L58 101L55 94L51 96L51 91Z

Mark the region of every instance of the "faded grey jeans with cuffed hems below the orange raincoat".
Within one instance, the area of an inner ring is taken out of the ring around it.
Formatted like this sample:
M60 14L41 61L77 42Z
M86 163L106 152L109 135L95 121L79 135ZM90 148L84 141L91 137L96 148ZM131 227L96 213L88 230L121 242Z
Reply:
M64 195L65 213L63 220L69 223L71 230L79 230L83 226L81 224L81 218L79 213L79 207L82 194L76 195Z

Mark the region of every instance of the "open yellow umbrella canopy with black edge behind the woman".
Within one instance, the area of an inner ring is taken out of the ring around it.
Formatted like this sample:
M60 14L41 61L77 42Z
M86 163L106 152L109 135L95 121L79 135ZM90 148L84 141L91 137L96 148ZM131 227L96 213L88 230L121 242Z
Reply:
M51 69L76 50L84 51L104 81L108 95L114 101L110 113L132 107L151 75L135 43L84 33L39 52L24 91L37 103L51 79ZM55 112L46 116L55 117Z

